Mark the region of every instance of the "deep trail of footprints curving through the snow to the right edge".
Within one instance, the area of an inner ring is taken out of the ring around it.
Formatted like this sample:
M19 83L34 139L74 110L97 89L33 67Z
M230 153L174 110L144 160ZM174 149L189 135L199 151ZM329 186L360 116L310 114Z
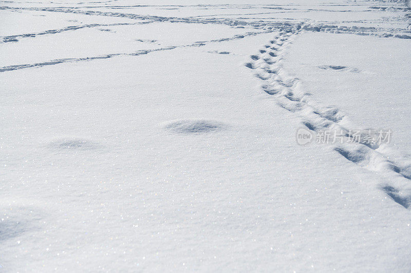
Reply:
M254 75L261 80L261 89L274 96L279 106L300 116L302 123L309 130L314 132L342 131L347 138L353 139L348 129L352 127L348 117L335 107L324 106L311 99L310 93L303 92L298 88L298 78L288 75L283 68L285 49L291 44L293 37L301 31L301 28L283 30L264 45L258 54L251 55L251 60L246 62L245 66L253 70ZM378 152L379 147L377 143L366 143L360 140L359 142L353 141L350 144L339 145L334 150L347 160L368 170L393 171L411 180L407 166L400 167L402 164L390 161L382 152ZM410 192L411 189L407 189L406 186L403 189L405 195L400 194L401 191L391 185L381 186L381 190L394 201L409 208L411 207L411 195L406 192Z

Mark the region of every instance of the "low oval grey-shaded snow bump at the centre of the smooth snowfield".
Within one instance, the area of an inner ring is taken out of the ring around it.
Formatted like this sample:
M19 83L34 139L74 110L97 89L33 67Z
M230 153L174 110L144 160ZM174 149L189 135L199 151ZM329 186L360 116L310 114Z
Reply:
M174 120L164 124L164 129L180 134L209 133L225 129L226 127L221 122L203 119Z

